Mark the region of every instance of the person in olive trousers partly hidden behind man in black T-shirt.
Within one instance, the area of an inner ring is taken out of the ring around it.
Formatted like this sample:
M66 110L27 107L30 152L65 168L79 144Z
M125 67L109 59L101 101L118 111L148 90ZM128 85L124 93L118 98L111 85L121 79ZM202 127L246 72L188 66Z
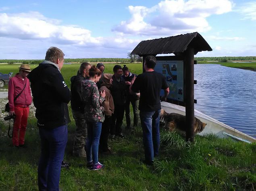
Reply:
M123 78L125 79L125 84L127 88L127 92L129 92L129 87L131 85L131 80L133 77L137 77L136 74L130 72L129 68L126 65L123 65ZM139 93L131 94L128 93L126 103L125 103L125 118L127 129L131 128L131 115L130 115L130 103L133 106L133 128L131 132L133 132L134 127L138 126L139 121Z

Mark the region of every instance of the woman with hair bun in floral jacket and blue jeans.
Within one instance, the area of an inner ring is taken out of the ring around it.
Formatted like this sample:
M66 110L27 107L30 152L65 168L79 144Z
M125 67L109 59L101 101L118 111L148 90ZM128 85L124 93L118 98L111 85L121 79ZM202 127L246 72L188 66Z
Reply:
M105 98L105 91L99 92L96 83L100 80L101 71L95 65L89 69L89 80L82 83L82 95L85 102L85 120L87 123L86 167L99 170L104 166L98 161L99 140L104 115L101 104Z

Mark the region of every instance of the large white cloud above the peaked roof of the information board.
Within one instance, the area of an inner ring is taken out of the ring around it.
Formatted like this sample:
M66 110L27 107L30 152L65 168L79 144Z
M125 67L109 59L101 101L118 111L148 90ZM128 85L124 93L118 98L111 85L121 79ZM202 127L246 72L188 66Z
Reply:
M164 0L152 8L129 6L131 18L112 30L134 35L177 35L210 29L206 18L230 12L230 0Z

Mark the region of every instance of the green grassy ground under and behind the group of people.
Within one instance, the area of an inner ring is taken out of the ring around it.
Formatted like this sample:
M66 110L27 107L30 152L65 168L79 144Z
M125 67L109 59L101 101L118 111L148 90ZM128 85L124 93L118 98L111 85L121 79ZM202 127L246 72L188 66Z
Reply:
M114 64L106 65L105 73ZM6 65L1 72L18 72L17 65ZM65 65L62 75L69 84L79 65ZM128 64L134 73L141 64ZM4 70L4 71L3 71ZM70 112L70 117L72 116ZM133 117L133 116L132 116ZM161 130L160 156L153 167L139 162L144 158L142 130L109 142L117 154L99 155L106 165L101 171L85 169L86 160L72 156L75 122L71 117L65 160L69 169L61 170L60 188L80 190L254 190L256 188L256 144L219 139L214 135L196 136L185 144L177 133ZM124 119L123 128L125 127ZM0 190L37 190L37 163L40 138L35 117L29 118L25 141L27 148L13 148L8 127L0 122Z

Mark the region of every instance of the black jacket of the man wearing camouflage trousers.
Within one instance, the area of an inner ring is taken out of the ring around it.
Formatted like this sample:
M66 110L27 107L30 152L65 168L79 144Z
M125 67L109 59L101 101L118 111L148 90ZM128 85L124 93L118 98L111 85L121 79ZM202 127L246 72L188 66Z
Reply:
M84 112L85 103L82 101L82 81L86 78L81 74L71 77L71 108L75 111Z

